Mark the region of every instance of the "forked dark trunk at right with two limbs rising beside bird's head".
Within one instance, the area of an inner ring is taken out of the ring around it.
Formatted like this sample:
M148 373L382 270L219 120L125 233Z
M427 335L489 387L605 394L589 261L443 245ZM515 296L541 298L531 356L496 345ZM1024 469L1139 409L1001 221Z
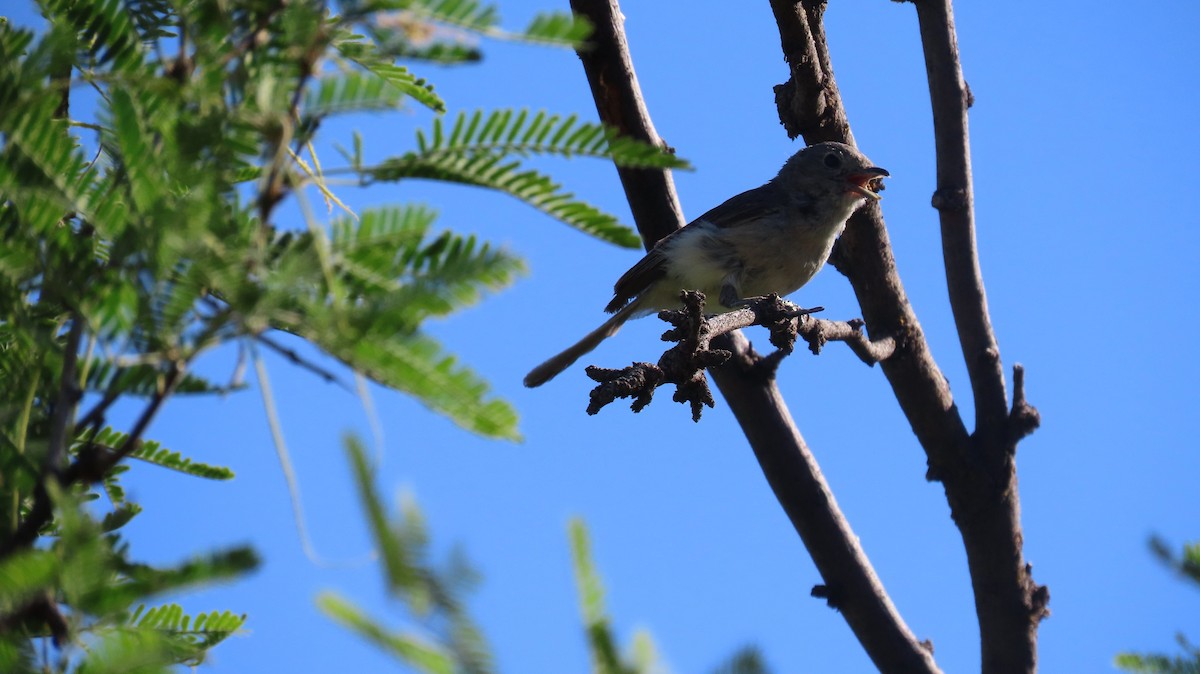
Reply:
M947 0L930 0L930 4L942 5L941 10L922 8L924 0L917 0L916 4L918 13L925 13L923 20L938 20L937 12L942 12L941 20L944 22L941 29L923 25L923 37L929 35L926 38L934 40L931 35L936 32L940 36L937 40L948 40L953 47L953 23ZM784 55L791 66L791 82L776 88L780 118L785 127L788 133L803 134L809 143L848 142L848 125L845 127L845 137L836 136L847 118L833 85L833 71L829 67L822 25L824 2L772 0L772 7L780 26ZM941 48L946 49L947 46L943 43ZM926 49L930 47L926 46ZM956 60L954 68L958 72ZM958 74L955 82L961 83L961 74ZM958 104L965 115L965 86L958 91ZM935 108L938 104L935 101ZM966 133L965 121L961 133ZM947 148L949 151L954 151L954 148L965 149L966 138L948 145L940 139L940 180L943 166L949 167L947 171L950 174L955 162L967 162L961 151L956 160L943 160L941 155ZM970 169L960 168L958 175L966 176L961 185L967 189ZM970 210L968 192L961 194L966 195L966 207ZM952 197L953 189L943 193L947 203L942 206L954 211ZM944 243L953 248L947 254L947 273L952 285L958 278L955 275L964 273L967 267L978 277L973 231L964 234L961 221L956 227L958 229L952 227L952 240ZM960 249L964 241L971 247L967 253ZM1033 582L1021 550L1020 501L1013 461L1018 433L1013 432L1012 422L1006 419L1008 413L1003 407L1003 378L998 378L997 389L997 378L984 373L986 368L1000 366L998 349L994 348L994 338L991 350L985 345L983 353L978 350L977 342L967 342L967 338L979 337L978 317L986 320L986 305L982 303L982 282L974 290L980 303L964 308L964 318L959 319L960 333L964 327L967 330L964 351L968 354L972 384L980 384L976 390L976 405L980 409L979 423L976 434L968 435L946 378L929 351L905 295L877 206L863 209L851 219L835 251L834 261L853 285L871 335L889 335L896 339L896 353L883 361L882 369L925 449L929 477L941 480L944 485L952 517L962 535L979 616L983 672L1032 672L1037 662L1037 625L1046 614L1049 594ZM955 270L949 271L950 266ZM952 293L960 290L952 289ZM971 293L970 289L966 295L960 293L958 301L971 301ZM958 312L956 307L956 318ZM977 317L973 324L971 315ZM990 327L986 335L990 338ZM998 421L992 419L997 414L997 390L1001 401ZM1028 420L1030 415L1022 414L1019 417Z

